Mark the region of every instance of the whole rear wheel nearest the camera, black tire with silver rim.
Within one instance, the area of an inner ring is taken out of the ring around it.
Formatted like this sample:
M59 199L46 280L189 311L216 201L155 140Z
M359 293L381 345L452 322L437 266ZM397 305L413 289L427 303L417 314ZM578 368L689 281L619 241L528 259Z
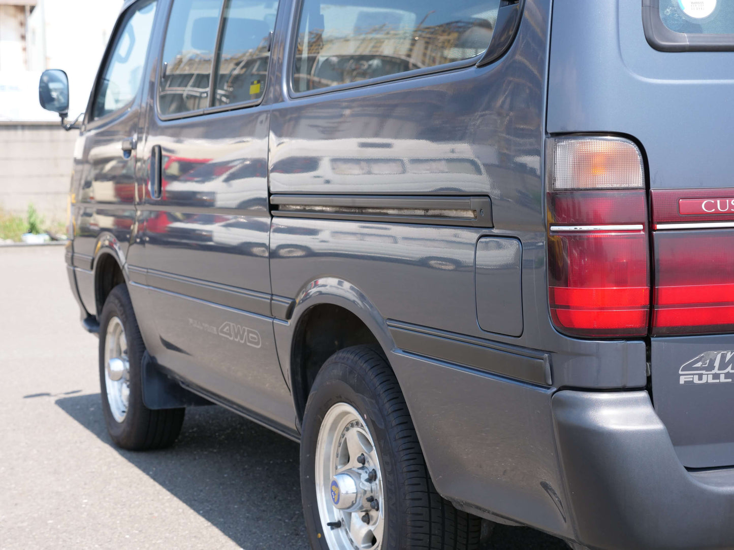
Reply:
M382 353L338 351L303 418L301 494L314 549L468 550L481 521L436 491L405 400Z

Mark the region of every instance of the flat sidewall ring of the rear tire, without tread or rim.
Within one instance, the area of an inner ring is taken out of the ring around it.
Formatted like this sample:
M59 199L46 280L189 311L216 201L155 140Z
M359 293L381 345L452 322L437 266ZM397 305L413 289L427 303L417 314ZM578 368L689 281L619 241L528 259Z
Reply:
M377 450L379 469L382 476L382 505L385 507L385 531L382 549L399 547L399 525L401 514L398 507L400 484L396 474L393 445L386 428L382 411L374 391L362 372L344 362L327 362L313 384L306 406L301 434L301 494L306 529L312 548L328 549L322 533L321 515L316 501L316 443L321 423L327 412L337 403L346 403L356 408L367 425ZM379 397L377 397L379 400Z

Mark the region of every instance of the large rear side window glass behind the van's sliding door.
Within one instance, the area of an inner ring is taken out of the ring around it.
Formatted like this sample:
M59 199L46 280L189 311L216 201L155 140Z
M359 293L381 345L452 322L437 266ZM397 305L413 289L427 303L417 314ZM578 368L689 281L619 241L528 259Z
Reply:
M435 67L482 54L500 0L304 0L297 92Z

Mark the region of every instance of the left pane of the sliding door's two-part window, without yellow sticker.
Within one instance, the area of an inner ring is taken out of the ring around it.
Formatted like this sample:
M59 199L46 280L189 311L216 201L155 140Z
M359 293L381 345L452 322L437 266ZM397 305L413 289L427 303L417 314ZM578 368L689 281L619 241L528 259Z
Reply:
M209 103L211 61L222 0L174 0L163 47L161 114L204 109Z

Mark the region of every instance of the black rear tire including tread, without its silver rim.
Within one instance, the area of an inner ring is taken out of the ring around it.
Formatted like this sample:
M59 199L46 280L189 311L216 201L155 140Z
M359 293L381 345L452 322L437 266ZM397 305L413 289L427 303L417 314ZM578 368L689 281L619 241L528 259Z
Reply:
M301 438L301 495L311 547L328 549L316 503L315 456L321 422L336 403L355 407L375 440L385 487L382 550L478 548L481 520L457 510L437 493L398 381L382 352L367 345L346 348L327 359L308 397Z

